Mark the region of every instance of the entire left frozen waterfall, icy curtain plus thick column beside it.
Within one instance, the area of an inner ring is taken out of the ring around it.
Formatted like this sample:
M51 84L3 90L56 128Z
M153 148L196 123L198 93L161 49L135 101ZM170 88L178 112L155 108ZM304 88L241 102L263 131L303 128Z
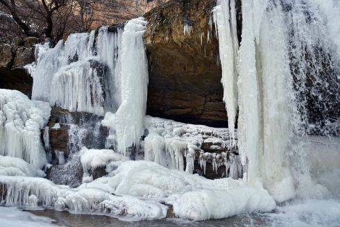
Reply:
M75 33L53 48L49 43L37 45L37 60L27 66L33 76L32 99L70 111L116 112L110 128L116 135L117 151L125 154L144 133L145 26L139 17L114 31L101 27L96 37L95 31Z

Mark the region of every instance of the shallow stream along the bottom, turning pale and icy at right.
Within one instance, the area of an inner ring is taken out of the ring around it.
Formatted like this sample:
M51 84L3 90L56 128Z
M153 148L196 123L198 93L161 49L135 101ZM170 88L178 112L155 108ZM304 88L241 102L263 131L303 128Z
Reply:
M185 219L162 219L154 221L126 222L112 217L99 215L69 215L55 210L38 210L33 214L50 217L56 224L73 227L83 226L339 226L340 201L309 200L291 201L280 205L275 212L264 214L244 214L228 219L210 219L205 221L188 221Z

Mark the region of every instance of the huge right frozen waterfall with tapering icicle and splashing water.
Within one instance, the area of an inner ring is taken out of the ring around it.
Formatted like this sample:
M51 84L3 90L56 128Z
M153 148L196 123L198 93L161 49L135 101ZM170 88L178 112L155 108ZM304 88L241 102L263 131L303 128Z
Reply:
M306 180L305 137L337 131L339 53L326 3L242 1L239 50L233 31L235 4L217 4L223 100L230 130L239 107L238 145L248 165L248 183L260 181L278 202L309 194L304 190L312 185L314 194L325 192Z

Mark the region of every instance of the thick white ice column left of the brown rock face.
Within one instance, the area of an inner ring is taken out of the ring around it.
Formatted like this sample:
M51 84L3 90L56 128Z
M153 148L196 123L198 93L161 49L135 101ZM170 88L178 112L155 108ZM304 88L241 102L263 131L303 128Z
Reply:
M121 37L121 105L114 117L117 151L126 153L139 144L144 133L144 117L148 92L148 60L143 35L143 17L130 20Z

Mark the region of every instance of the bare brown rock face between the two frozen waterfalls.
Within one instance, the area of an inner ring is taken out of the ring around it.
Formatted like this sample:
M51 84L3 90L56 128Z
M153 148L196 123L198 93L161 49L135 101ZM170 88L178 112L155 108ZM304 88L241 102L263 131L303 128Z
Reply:
M147 113L192 124L228 126L211 0L169 1L147 12ZM184 33L184 26L191 33Z

